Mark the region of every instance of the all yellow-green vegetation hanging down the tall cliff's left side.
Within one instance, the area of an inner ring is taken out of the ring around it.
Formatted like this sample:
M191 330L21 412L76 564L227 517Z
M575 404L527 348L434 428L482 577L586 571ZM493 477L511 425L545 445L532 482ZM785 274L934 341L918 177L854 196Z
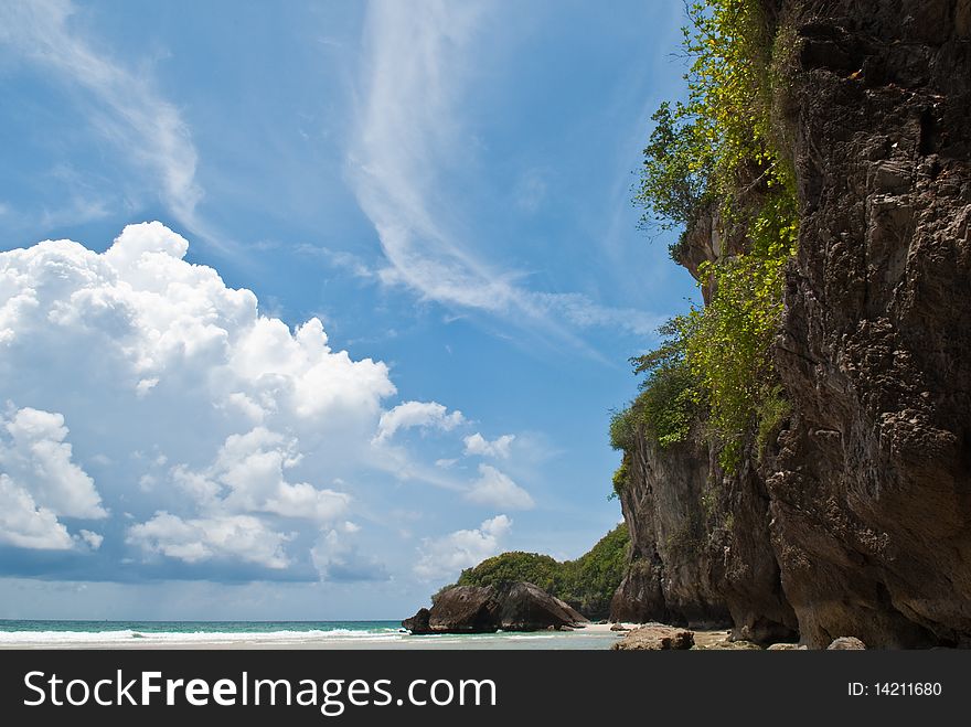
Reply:
M707 304L672 319L661 330L664 343L631 360L647 379L613 416L610 435L625 451L640 431L663 448L703 421L701 430L730 470L743 442L751 437L764 445L786 413L771 344L798 217L775 118L791 43L757 0L696 2L687 14L687 99L664 103L654 114L634 202L644 209L644 225L683 229L671 249L676 261L685 263L692 228L703 217L715 225L722 250L697 266Z

